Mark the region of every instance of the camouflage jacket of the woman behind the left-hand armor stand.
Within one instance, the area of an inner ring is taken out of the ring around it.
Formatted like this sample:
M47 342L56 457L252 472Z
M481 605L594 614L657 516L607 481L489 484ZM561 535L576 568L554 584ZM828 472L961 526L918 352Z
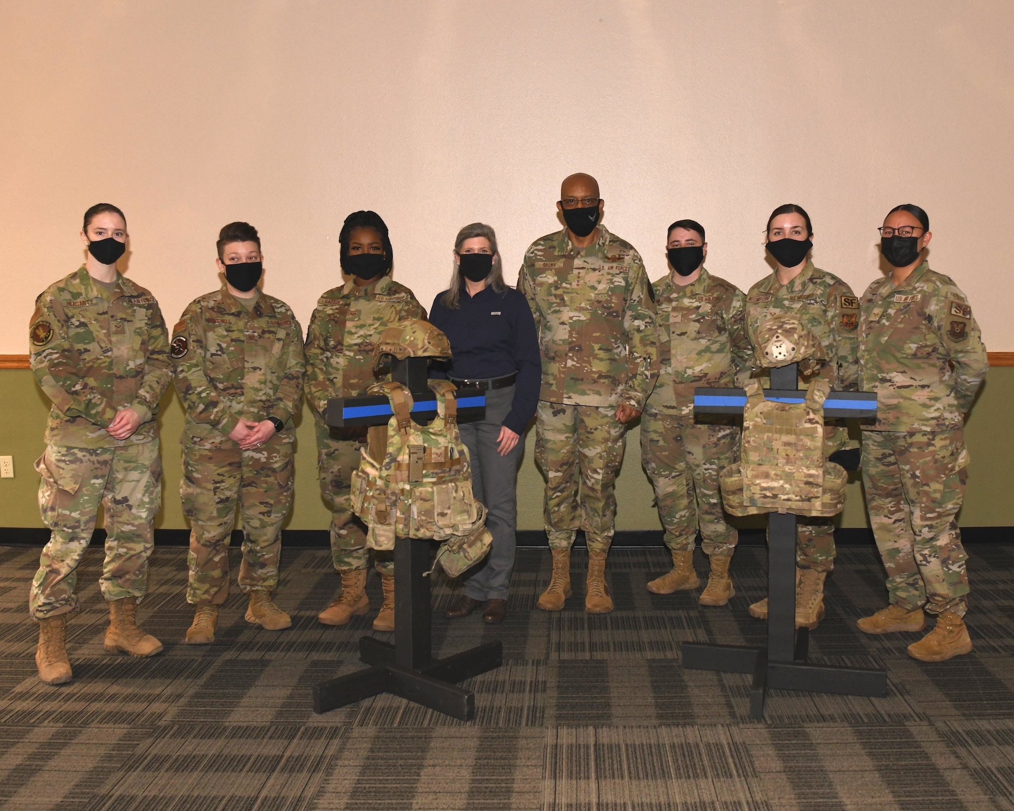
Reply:
M389 276L357 287L351 279L317 300L306 330L306 399L320 417L329 397L365 394L384 377L373 372L373 346L388 326L425 318L426 310Z

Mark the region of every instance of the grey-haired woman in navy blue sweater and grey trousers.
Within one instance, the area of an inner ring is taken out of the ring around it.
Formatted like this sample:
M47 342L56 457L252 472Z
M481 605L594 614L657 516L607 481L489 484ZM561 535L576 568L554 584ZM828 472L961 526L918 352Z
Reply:
M450 287L434 299L430 321L450 342L451 382L486 393L485 419L460 429L472 457L473 493L489 511L493 547L464 576L464 594L447 615L467 616L482 605L485 621L500 622L514 568L517 468L542 366L528 302L504 284L497 235L489 225L477 222L458 231Z

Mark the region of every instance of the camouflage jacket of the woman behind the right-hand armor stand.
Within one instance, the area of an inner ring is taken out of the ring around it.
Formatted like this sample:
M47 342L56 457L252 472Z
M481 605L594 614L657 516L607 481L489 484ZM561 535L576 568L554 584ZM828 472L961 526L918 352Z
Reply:
M767 316L791 314L820 341L827 363L820 370L832 388L855 391L859 382L859 299L834 274L814 268L812 262L787 285L772 274L746 294L746 329L756 346L756 330Z

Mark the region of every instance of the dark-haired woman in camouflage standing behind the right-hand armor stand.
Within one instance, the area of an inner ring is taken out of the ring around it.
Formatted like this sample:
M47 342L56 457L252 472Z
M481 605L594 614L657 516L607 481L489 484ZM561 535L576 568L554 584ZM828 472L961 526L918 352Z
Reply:
M808 235L807 235L808 236ZM793 238L793 237L785 237ZM827 380L831 388L840 391L856 389L859 367L856 360L859 327L859 299L852 289L837 276L813 266L806 260L803 270L788 284L783 285L778 273L762 279L746 294L746 328L750 343L756 347L757 329L779 314L792 315L802 326L819 340L824 349L826 363L817 376ZM764 375L764 385L769 386L769 375ZM801 375L805 386L811 378ZM826 455L855 448L850 442L848 429L834 421L824 426ZM801 586L796 591L797 621L800 613L807 613L803 603L817 605L822 599L822 578L835 568L835 526L830 518L800 517L796 541L796 566L801 572ZM822 603L820 603L822 604ZM752 616L768 617L768 599L750 606ZM811 613L811 612L810 612ZM810 619L806 620L810 625Z

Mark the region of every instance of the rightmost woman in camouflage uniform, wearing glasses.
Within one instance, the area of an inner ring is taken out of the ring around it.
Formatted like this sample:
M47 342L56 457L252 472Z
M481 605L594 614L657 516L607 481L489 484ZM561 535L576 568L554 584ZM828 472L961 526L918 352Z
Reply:
M930 236L928 218L919 227L908 209L884 224ZM873 282L860 317L862 388L877 392L876 424L863 427L863 485L890 605L858 624L869 634L920 631L925 606L937 624L909 653L949 659L971 650L961 619L967 556L955 518L968 464L963 416L986 376L986 348L965 295L925 261L897 284L891 276Z

